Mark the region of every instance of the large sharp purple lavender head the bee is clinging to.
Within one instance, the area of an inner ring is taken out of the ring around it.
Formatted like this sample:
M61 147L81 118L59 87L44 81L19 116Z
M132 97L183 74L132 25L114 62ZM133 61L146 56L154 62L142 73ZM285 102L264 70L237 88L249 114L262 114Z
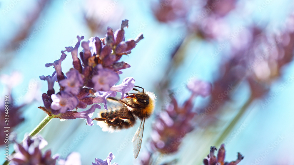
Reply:
M52 76L40 76L40 79L48 81L48 91L42 94L44 107L38 108L48 115L54 115L55 118L85 118L88 125L92 125L91 116L94 110L101 108L99 105L93 105L94 103L104 103L104 108L107 109L107 97L115 97L116 92L121 92L122 98L126 97L125 93L133 89L135 80L128 77L122 84L115 86L119 80L118 74L122 73L121 69L130 67L128 63L119 60L122 55L130 54L136 44L143 39L143 35L139 35L135 40L125 42L123 28L127 26L128 20L122 21L116 33L108 27L106 37L102 39L92 37L86 42L82 41L83 36L77 36L78 42L74 48L65 47L65 51L71 52L74 66L66 73L67 77L61 70L61 62L66 58L64 51L61 51L59 60L46 64L46 67L54 66L55 72ZM83 51L79 53L78 58L80 45ZM117 50L119 45L125 45L123 50ZM60 85L56 94L53 88L56 81L55 73ZM86 108L88 105L93 106L83 112L74 110Z

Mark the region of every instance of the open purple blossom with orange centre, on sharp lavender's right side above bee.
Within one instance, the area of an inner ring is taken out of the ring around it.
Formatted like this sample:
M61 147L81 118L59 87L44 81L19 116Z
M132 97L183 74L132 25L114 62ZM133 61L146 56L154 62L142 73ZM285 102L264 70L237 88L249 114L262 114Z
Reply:
M98 91L109 91L119 80L119 76L110 69L104 69L101 64L97 65L98 74L93 76L92 82L94 83L93 89Z

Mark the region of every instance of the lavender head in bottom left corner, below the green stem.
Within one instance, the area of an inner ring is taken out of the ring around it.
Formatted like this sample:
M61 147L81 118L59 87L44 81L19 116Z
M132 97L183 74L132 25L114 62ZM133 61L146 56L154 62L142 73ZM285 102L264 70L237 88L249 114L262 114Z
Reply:
M55 165L58 157L51 157L51 151L42 154L41 149L48 143L41 136L35 138L26 137L22 144L15 144L15 154L12 155L12 165L46 164Z

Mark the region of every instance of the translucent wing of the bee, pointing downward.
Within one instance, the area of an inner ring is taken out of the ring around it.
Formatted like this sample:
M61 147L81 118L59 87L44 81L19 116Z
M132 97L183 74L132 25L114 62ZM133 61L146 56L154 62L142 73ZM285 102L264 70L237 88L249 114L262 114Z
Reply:
M143 121L144 120L144 121ZM138 130L136 131L132 142L133 142L133 152L134 152L134 157L135 159L138 157L138 154L140 152L141 149L141 144L142 144L142 138L143 138L143 131L144 131L144 124L145 124L145 118L141 121L141 124L138 128ZM143 126L142 126L142 122L143 122Z

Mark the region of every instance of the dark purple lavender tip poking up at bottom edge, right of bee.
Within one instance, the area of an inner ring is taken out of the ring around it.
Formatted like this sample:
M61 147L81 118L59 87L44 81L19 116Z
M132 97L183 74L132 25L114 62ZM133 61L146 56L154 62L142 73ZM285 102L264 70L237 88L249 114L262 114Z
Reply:
M207 158L203 159L204 165L218 165L218 164L224 164L224 165L236 165L240 163L241 160L244 159L244 157L238 152L238 158L236 161L231 161L230 163L225 162L225 145L222 144L220 146L220 149L218 150L217 157L214 155L214 152L216 151L216 147L210 147L210 153L207 155Z

